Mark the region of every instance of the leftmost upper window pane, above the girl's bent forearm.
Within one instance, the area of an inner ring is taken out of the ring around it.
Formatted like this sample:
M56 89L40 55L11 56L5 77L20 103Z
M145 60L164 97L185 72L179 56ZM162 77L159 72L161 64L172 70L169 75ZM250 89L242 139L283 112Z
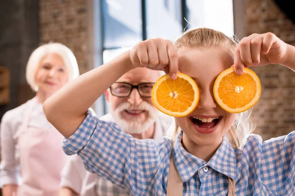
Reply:
M129 47L142 40L141 0L102 0L103 47Z

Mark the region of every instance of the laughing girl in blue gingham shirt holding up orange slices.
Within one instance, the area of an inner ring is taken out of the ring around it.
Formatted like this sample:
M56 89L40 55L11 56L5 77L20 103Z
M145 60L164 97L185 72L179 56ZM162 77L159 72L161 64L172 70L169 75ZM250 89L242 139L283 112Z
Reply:
M49 98L43 108L67 138L63 150L78 153L90 172L111 180L129 195L287 196L295 190L295 132L262 142L260 136L249 135L252 130L243 115L224 111L212 92L216 77L231 66L240 75L244 67L267 64L295 70L295 47L272 33L252 34L236 46L219 31L197 28L174 44L162 39L138 43L81 75ZM100 121L87 111L112 83L136 67L163 70L171 79L179 71L199 86L197 108L186 117L175 118L180 131L173 146L168 138L136 140L117 124ZM193 117L218 120L196 123ZM231 137L226 135L229 130L234 133Z

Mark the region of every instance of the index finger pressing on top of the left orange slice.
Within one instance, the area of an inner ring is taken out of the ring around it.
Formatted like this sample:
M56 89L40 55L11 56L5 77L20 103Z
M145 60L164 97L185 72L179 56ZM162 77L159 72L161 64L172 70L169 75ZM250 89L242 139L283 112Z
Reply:
M168 43L167 52L169 57L169 74L171 79L178 76L178 54L172 43Z

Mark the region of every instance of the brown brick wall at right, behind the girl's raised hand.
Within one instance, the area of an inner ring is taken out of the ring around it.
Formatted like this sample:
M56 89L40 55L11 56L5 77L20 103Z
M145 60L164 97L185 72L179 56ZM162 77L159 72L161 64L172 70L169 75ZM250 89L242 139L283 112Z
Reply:
M295 24L273 0L246 0L246 34L273 32L295 46ZM283 66L252 68L262 84L262 95L251 115L255 133L263 139L295 130L295 73Z

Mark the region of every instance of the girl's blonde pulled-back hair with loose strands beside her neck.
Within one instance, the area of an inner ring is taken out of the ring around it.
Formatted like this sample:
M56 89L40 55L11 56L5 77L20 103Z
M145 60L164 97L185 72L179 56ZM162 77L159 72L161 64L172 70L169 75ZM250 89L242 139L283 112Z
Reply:
M237 41L229 38L224 33L210 28L195 28L184 32L174 43L176 49L181 48L211 48L219 47L228 49L234 55ZM254 130L249 117L252 109L236 114L236 119L227 132L229 141L234 148L242 148ZM168 131L170 138L175 138L180 128L175 121Z

